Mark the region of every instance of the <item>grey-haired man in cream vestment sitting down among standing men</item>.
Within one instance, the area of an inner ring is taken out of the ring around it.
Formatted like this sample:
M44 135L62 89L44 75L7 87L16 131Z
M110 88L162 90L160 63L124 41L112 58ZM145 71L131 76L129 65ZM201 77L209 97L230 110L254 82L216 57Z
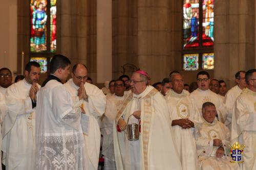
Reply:
M216 118L216 107L211 102L202 106L203 123L196 124L195 138L200 169L239 169L231 163L230 131Z

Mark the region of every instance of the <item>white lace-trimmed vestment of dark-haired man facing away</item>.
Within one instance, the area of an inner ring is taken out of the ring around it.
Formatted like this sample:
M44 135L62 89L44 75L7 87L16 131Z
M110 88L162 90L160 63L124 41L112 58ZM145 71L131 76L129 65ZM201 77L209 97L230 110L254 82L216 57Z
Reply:
M86 169L81 109L60 80L40 88L36 112L36 169Z

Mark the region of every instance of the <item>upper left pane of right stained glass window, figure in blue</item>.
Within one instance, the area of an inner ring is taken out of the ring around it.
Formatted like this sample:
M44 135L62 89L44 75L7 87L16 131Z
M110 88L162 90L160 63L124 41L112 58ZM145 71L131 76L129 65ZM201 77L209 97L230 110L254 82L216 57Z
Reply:
M183 48L199 46L199 0L183 1Z

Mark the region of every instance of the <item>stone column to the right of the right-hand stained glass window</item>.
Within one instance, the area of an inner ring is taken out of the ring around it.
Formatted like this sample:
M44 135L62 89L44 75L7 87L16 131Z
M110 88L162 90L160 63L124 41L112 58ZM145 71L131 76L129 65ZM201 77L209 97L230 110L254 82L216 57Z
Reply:
M215 1L215 78L232 87L234 74L254 68L255 2Z

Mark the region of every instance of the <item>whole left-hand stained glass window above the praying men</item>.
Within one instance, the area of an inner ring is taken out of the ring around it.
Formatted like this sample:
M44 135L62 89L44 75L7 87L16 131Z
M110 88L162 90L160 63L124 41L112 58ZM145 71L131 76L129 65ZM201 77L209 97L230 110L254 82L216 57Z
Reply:
M46 73L49 57L57 47L57 0L30 1L30 61L41 65Z

